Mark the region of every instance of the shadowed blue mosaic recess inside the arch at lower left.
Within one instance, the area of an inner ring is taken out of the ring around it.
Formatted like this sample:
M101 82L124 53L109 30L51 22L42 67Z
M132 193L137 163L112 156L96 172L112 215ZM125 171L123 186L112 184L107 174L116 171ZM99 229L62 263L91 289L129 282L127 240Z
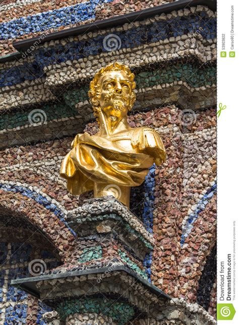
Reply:
M2 222L4 219L5 222ZM49 251L49 243L44 243L31 225L24 224L21 220L21 226L16 229L12 226L14 221L14 217L8 215L6 218L5 214L0 222L0 323L45 324L42 315L51 309L40 300L12 286L11 280L37 275L41 268L44 271L54 268L59 265L59 260ZM42 260L44 264L41 263Z

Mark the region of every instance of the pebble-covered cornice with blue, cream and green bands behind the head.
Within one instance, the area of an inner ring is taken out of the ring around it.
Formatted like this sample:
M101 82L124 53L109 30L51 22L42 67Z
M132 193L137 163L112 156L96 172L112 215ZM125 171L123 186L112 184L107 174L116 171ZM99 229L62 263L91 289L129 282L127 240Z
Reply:
M118 42L115 49L108 48L106 40L114 44L109 36ZM114 61L136 75L135 111L215 105L215 37L215 13L197 6L40 42L28 57L0 64L0 148L82 132L93 119L89 81L99 65Z

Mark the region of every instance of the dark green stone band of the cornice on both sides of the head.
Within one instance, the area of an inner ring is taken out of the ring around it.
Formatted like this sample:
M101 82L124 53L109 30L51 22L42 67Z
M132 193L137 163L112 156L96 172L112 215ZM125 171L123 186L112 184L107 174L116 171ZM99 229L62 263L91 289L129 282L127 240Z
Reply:
M171 83L173 81L188 82L191 87L200 87L216 83L216 67L198 66L191 63L169 65L153 71L144 71L136 75L135 81L138 88L153 87L161 83ZM57 104L46 104L40 107L46 115L46 121L62 119L78 115L75 105L88 100L89 83L79 88L68 89L63 94L63 101ZM29 125L29 113L35 109L31 107L22 112L10 112L2 116L0 120L0 130L14 128L17 126Z

